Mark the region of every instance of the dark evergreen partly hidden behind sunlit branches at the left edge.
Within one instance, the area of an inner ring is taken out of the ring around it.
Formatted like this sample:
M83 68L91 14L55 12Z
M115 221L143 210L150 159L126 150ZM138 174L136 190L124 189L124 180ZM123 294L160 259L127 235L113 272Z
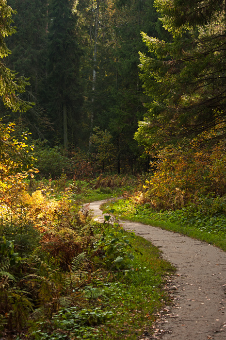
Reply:
M30 86L23 94L24 100L35 103L30 110L22 115L33 136L42 136L43 109L41 103L42 80L46 69L48 0L8 0L16 10L14 22L16 34L7 39L11 54L6 60L7 66L19 75L29 78ZM11 118L18 117L18 114Z

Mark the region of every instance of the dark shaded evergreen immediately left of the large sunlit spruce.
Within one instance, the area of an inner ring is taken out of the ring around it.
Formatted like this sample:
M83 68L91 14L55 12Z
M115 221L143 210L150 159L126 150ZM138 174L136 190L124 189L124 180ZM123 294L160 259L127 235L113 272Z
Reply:
M143 106L145 96L138 68L138 51L145 51L140 32L145 30L148 34L160 37L161 28L158 27L158 16L153 7L153 0L118 1L117 8L123 17L114 27L116 43L113 55L117 100L112 107L115 114L111 118L110 128L119 152L119 170L124 158L133 168L141 153L133 139L138 128L138 120L143 119L145 113Z

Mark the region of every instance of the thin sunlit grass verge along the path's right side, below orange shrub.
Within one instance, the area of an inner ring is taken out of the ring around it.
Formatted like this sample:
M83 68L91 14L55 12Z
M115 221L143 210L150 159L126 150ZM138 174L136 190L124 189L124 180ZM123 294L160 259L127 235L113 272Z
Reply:
M102 209L105 209L107 205L108 204L103 205ZM143 214L141 212L139 213L129 201L117 201L117 203L113 205L113 209L115 210L114 214L119 216L122 220L141 222L164 230L173 231L213 244L226 251L226 235L223 233L216 233L215 230L213 232L208 232L202 228L200 229L198 226L190 225L189 223L187 225L182 225L180 223L167 221L166 213L153 213L152 209L144 209ZM148 214L150 215L150 218L147 217ZM152 216L157 216L159 219L165 219L165 221L155 220Z

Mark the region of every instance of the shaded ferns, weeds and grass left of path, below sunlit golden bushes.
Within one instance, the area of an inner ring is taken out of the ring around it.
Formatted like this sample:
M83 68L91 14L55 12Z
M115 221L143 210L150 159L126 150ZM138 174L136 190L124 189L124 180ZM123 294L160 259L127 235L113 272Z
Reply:
M168 301L162 277L174 269L148 241L105 220L63 205L54 226L22 228L21 238L32 231L36 239L22 257L20 245L6 241L13 225L5 226L1 339L137 339L150 329Z

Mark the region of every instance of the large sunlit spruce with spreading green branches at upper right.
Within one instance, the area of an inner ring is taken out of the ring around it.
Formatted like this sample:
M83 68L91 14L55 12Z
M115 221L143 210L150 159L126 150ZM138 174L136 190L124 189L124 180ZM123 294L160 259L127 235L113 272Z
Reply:
M136 139L152 148L213 127L216 138L225 136L225 0L155 2L173 41L143 34L154 58L141 54L150 102Z

